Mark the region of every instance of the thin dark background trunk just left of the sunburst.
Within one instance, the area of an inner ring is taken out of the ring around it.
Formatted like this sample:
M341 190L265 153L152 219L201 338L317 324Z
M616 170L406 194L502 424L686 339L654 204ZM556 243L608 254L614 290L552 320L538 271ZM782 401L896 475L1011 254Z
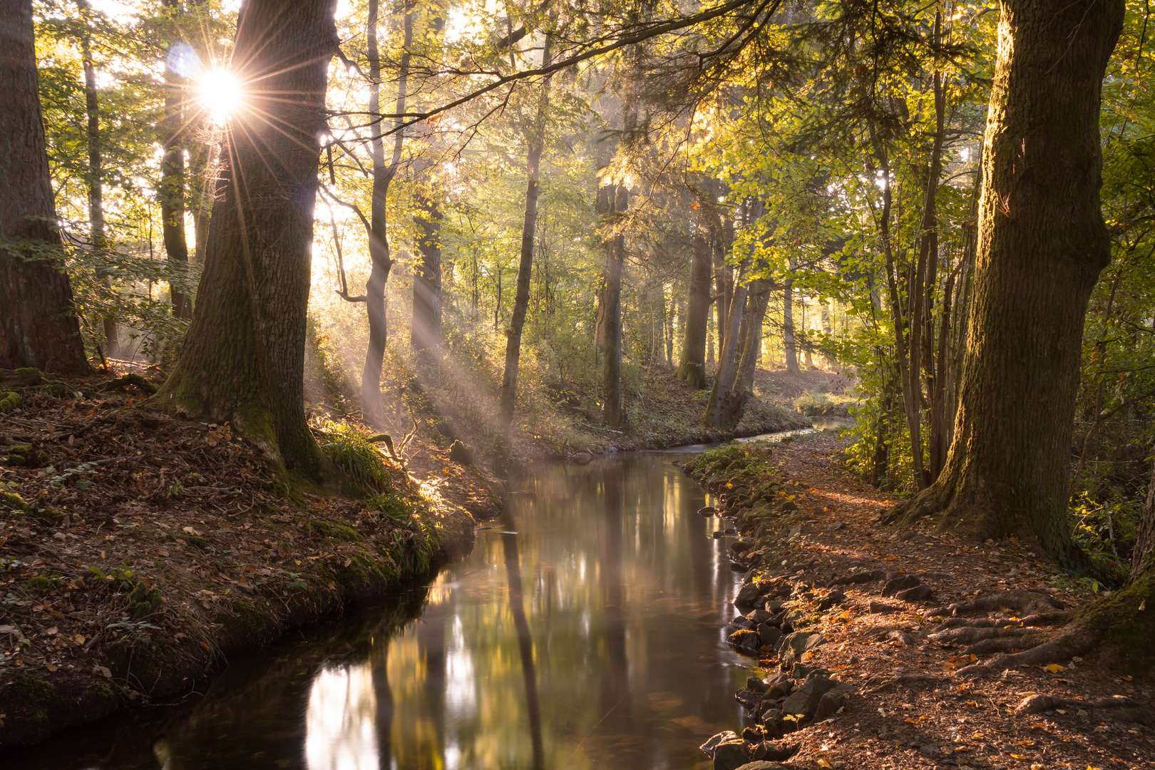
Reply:
M177 0L161 0L169 13L179 9ZM185 240L185 151L181 147L181 110L184 85L177 73L164 67L164 119L161 121L161 222L164 233L164 253L178 269L188 268L188 242ZM178 319L192 316L192 307L182 286L169 287L172 314Z

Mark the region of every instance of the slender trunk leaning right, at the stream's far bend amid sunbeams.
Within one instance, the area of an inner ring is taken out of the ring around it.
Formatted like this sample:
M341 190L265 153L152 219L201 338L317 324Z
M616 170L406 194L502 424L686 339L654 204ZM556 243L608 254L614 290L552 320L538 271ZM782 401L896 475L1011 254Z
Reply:
M550 63L550 36L545 36L542 52L542 66ZM537 231L537 193L538 167L542 163L542 150L545 147L545 113L550 107L550 79L542 81L542 90L537 97L537 115L532 133L526 139L526 207L521 220L521 260L517 263L517 292L513 300L513 317L509 320L509 332L506 335L505 369L501 374L501 401L499 409L499 426L502 431L513 421L514 408L517 404L517 366L521 361L521 330L526 326L526 311L529 307L529 282L534 274L534 236Z

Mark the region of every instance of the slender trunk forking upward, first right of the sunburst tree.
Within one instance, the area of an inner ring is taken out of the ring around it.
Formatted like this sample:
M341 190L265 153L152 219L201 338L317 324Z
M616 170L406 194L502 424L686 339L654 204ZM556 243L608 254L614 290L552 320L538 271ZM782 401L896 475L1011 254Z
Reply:
M368 0L368 111L379 114L381 109L381 57L378 51L378 0ZM401 53L401 68L397 73L397 115L405 112L405 96L409 80L410 48L413 44L412 8L405 3L405 15L402 22L404 50ZM388 342L386 326L385 284L389 279L393 259L389 256L389 239L386 224L386 199L389 184L397 173L401 163L401 147L404 136L401 132L402 118L396 118L393 135L393 157L385 165L385 141L381 122L374 122L370 139L370 155L373 159L373 190L370 201L368 256L372 262L368 281L365 283L365 315L368 319L368 346L365 349L365 366L362 368L362 413L365 421L375 427L385 427L381 413L381 366L385 364L385 345Z

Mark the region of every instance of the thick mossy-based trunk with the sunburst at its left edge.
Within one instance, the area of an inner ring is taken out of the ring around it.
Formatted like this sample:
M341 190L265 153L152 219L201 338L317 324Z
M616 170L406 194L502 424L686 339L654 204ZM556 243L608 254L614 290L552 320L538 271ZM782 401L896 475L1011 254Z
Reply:
M316 472L305 423L305 317L336 0L249 0L233 61L249 84L226 129L200 301L156 398Z

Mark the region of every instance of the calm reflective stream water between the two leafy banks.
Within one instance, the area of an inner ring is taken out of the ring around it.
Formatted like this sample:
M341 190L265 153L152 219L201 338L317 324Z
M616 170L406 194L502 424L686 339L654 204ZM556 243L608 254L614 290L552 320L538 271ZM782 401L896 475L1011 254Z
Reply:
M0 756L5 768L708 767L754 661L723 642L740 575L707 495L631 453L519 479L431 584L296 631L179 707Z

